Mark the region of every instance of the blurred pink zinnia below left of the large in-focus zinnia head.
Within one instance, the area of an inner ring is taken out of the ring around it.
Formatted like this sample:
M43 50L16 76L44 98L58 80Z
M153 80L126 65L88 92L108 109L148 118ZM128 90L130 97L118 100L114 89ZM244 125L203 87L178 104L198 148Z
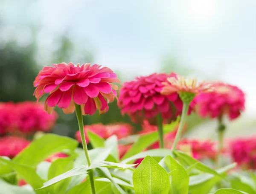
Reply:
M43 104L35 102L20 102L16 104L17 130L22 133L49 131L54 125L58 114L53 111L49 115L44 111Z

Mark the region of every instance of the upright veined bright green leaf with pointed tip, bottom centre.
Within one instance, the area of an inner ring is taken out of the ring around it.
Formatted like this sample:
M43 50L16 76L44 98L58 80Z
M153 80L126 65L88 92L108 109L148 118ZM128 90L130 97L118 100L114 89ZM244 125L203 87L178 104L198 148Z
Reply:
M166 170L151 156L146 156L133 174L136 194L168 194L170 179Z

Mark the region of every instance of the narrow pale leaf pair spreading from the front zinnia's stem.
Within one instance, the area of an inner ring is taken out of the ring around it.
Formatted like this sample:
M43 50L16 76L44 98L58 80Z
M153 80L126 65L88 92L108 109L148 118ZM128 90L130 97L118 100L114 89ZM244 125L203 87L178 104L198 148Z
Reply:
M41 187L41 188L48 187L50 185L53 185L53 184L55 184L55 183L57 183L61 180L67 179L69 177L74 177L74 176L78 176L78 175L82 175L82 174L87 174L93 168L105 167L105 168L125 169L125 168L130 168L132 166L134 166L134 165L126 165L126 164L107 162L107 161L95 162L95 163L91 164L90 167L82 165L82 166L73 168L70 171L67 171L63 174L60 174L57 177L54 177L51 180L48 180L47 182L44 182L44 186Z

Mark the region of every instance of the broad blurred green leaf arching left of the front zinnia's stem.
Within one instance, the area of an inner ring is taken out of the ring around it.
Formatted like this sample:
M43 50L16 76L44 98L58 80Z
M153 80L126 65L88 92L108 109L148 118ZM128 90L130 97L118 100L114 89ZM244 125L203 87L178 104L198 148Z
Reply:
M73 151L77 146L78 142L75 139L47 133L39 139L35 139L27 148L15 156L13 161L35 167L48 156L64 149Z

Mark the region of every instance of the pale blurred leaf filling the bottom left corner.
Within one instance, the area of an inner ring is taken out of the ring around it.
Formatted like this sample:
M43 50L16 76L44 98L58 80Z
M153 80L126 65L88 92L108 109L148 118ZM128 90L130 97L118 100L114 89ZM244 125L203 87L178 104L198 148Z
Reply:
M35 191L31 191L16 185L11 185L0 179L0 194L35 194Z

